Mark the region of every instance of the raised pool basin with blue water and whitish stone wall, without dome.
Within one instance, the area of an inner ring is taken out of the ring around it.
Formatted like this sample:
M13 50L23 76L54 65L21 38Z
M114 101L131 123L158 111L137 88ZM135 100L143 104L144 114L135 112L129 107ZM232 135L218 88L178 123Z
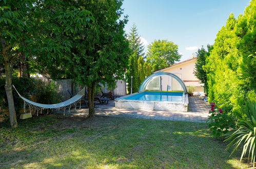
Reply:
M119 109L140 109L145 111L188 111L188 95L183 92L151 92L133 93L115 99L115 107Z

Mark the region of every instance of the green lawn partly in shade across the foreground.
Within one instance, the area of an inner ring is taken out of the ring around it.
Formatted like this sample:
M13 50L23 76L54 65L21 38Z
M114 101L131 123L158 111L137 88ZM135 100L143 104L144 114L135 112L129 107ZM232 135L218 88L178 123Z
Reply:
M244 168L205 123L45 115L0 126L0 168Z

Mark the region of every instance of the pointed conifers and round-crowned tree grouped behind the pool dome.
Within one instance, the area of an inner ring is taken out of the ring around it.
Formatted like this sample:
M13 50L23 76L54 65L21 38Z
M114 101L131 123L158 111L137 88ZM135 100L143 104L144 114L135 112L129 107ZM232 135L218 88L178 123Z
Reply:
M142 81L151 75L152 71L170 66L175 61L179 61L182 56L178 52L178 45L165 39L152 41L148 45L147 53L145 54L144 46L135 24L131 28L128 40L131 50L126 72L128 93L131 93L131 88L132 93L138 92Z

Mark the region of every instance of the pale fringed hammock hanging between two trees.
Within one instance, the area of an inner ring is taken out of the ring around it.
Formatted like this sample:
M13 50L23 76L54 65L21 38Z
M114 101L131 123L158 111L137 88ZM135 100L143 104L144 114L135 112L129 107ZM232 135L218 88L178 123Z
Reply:
M14 87L14 85L12 85L13 88L15 89L15 91L18 93L18 91L16 90L16 88ZM18 93L19 97L21 97L24 100L24 112L26 111L26 105L28 105L29 109L30 109L30 113L31 113L31 109L35 109L37 111L37 116L38 116L38 111L41 110L41 114L42 114L42 110L47 109L47 114L49 112L49 109L58 109L60 111L63 110L64 111L64 116L65 116L65 110L69 109L70 112L70 108L75 105L75 110L76 110L76 104L78 102L80 102L80 108L81 108L81 99L82 97L85 95L85 88L83 88L80 92L78 92L74 97L63 101L61 103L56 103L56 104L41 104L41 103L36 103L33 102L29 99L26 99L24 97L22 97L22 95L20 95Z

